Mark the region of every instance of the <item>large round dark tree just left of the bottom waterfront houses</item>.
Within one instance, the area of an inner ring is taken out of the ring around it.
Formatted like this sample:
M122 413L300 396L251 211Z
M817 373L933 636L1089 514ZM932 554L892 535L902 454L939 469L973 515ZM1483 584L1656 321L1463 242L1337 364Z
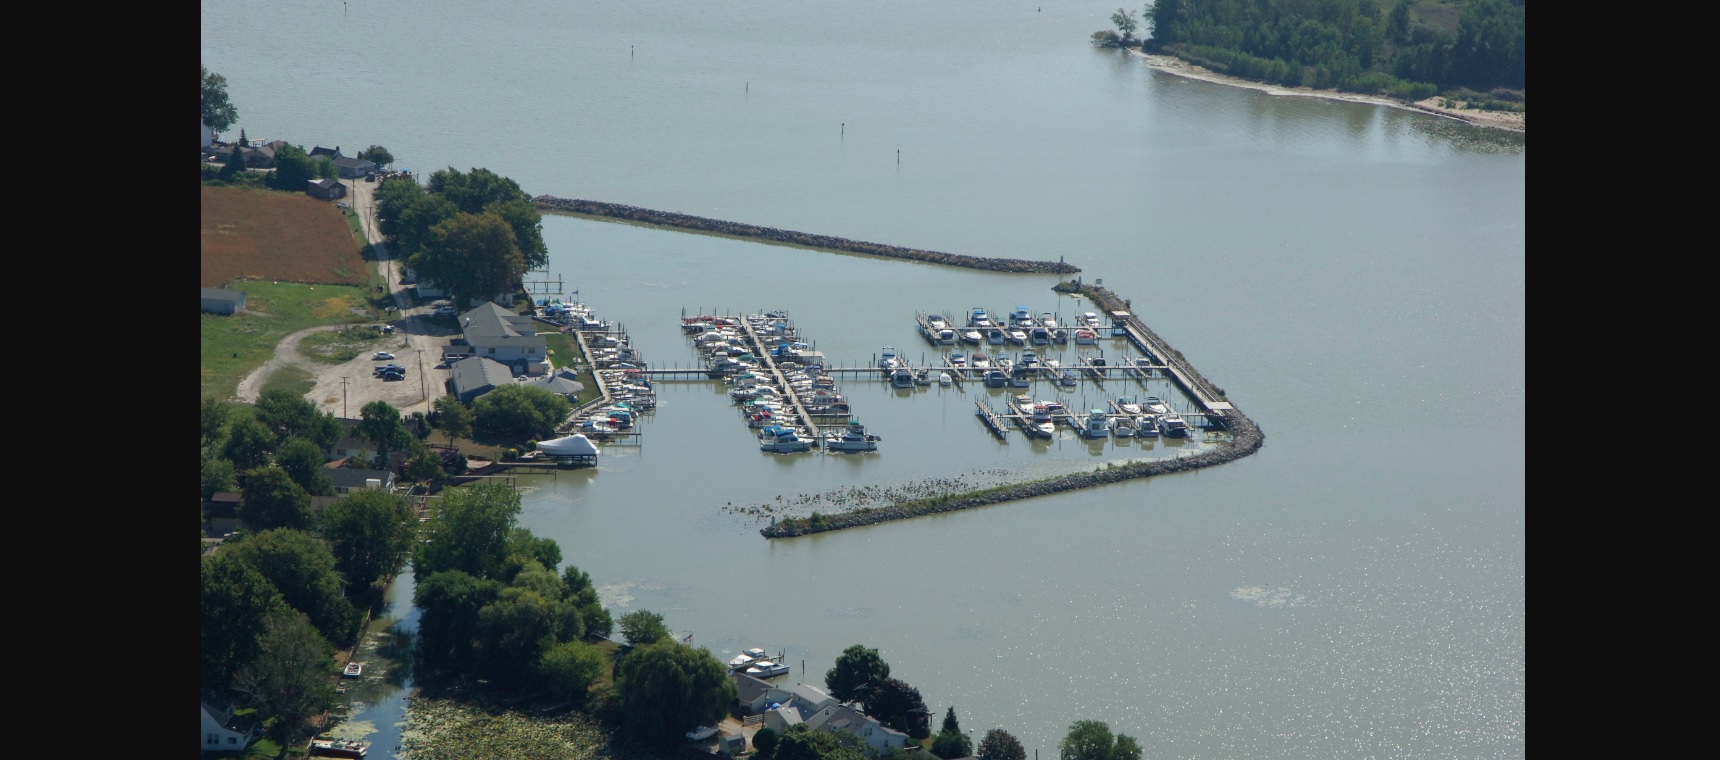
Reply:
M616 677L623 727L652 748L686 741L686 731L728 715L734 700L728 671L709 650L673 638L633 650Z

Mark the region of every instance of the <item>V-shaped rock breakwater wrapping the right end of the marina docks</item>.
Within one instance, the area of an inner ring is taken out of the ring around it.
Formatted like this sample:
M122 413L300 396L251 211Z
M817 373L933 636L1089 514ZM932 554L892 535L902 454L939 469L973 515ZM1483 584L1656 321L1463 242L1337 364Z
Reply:
M1092 299L1106 311L1125 311L1128 301L1116 297L1115 292L1092 287L1066 284L1058 287L1060 292L1080 292ZM1146 335L1147 344L1152 351L1159 354L1168 365L1175 365L1176 370L1187 378L1195 389L1185 389L1197 392L1204 399L1223 399L1223 389L1213 385L1209 380L1201 377L1189 361L1183 359L1182 352L1170 347L1163 337L1149 330L1137 316L1130 315L1130 325L1137 328L1139 334ZM1154 475L1168 473L1187 473L1201 468L1213 468L1225 463L1233 463L1249 454L1261 450L1266 444L1266 433L1261 432L1254 420L1249 420L1242 409L1230 404L1230 409L1223 414L1225 428L1230 430L1230 445L1221 449L1206 450L1201 454L1176 457L1176 459L1158 459L1151 463L1130 463L1115 464L1090 471L1060 475L1054 478L1030 480L1025 483L1003 485L968 493L949 493L931 499L913 499L891 504L888 507L865 507L850 512L838 514L820 514L814 512L810 518L788 518L779 519L774 524L760 530L759 533L765 538L793 538L803 536L807 533L824 533L843 528L860 528L867 524L886 523L891 519L908 519L920 518L925 514L955 512L958 509L974 509L991 504L1013 502L1018 499L1034 499L1053 493L1065 493L1080 488L1092 488L1099 485L1121 483L1127 480L1151 478Z

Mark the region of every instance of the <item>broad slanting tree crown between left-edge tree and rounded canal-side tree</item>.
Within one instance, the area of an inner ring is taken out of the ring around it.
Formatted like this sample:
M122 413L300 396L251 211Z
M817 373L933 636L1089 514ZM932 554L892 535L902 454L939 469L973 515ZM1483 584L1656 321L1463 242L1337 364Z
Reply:
M268 578L280 598L304 612L323 638L341 647L353 643L359 612L342 593L334 552L316 536L277 528L229 542L222 552L232 552Z

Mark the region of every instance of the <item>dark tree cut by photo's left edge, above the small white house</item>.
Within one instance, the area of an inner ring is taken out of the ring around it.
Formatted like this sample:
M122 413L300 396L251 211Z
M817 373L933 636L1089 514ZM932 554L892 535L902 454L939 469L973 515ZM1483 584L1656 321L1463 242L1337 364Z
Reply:
M286 607L275 585L227 552L203 555L201 655L203 688L225 691L232 676L263 648L263 621Z

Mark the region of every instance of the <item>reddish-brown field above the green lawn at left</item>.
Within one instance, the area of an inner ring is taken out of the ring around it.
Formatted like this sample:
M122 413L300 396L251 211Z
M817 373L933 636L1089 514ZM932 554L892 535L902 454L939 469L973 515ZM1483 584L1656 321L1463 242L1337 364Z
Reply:
M368 285L341 210L303 194L203 187L203 287L234 280Z

